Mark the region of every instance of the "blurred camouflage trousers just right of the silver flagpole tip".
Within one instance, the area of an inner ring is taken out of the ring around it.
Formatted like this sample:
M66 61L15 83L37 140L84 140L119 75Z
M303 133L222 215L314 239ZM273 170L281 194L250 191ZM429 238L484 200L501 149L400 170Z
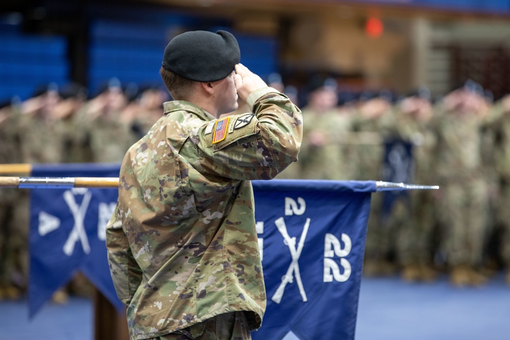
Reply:
M448 266L481 265L488 236L488 186L483 179L450 181L443 191L439 208L445 226L443 253Z

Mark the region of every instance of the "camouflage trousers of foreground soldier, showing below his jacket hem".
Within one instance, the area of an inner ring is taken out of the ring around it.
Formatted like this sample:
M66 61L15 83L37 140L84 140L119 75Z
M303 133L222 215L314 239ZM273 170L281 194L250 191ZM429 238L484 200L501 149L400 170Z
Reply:
M243 311L220 314L199 324L148 340L250 340Z

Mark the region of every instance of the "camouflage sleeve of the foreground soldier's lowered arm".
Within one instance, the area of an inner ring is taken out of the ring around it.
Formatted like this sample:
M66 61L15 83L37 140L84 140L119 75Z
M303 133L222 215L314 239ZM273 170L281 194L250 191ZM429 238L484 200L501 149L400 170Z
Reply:
M119 299L129 305L142 281L142 270L131 252L129 241L122 229L120 214L117 203L115 212L106 226L106 246L115 291Z

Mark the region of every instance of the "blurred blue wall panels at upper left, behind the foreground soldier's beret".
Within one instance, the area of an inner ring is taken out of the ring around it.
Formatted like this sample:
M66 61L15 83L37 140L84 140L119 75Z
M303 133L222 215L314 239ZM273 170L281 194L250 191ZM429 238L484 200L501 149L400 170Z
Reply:
M163 86L159 75L163 50L173 36L189 30L230 31L238 37L243 64L262 77L278 71L275 37L239 34L222 18L112 5L89 7L87 13L88 63L83 67L90 96L112 78L123 87ZM69 83L71 66L66 36L27 34L21 18L0 17L0 101L25 100L42 85Z

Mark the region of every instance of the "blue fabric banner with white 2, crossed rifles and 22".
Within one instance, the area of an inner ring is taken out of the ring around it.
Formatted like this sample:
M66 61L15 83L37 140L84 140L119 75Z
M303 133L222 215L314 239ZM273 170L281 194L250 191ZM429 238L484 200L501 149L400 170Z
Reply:
M253 181L267 308L254 340L353 339L373 181Z

